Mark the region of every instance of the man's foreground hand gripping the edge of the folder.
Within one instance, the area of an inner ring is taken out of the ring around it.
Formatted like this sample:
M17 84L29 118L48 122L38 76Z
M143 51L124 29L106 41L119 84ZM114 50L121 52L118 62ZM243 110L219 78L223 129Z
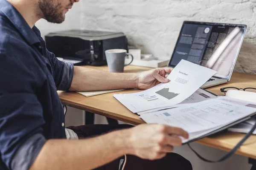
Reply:
M142 159L161 159L172 152L173 146L182 144L179 136L187 139L189 134L178 128L167 125L143 124L130 130L128 154Z

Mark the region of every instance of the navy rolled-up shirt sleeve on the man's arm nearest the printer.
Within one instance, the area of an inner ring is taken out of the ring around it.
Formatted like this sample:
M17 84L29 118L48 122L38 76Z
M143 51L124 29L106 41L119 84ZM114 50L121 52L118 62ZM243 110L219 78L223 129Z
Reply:
M52 52L47 50L47 57L52 63L54 71L54 81L57 90L68 91L70 89L73 75L74 75L74 65L70 62L62 62L58 60Z

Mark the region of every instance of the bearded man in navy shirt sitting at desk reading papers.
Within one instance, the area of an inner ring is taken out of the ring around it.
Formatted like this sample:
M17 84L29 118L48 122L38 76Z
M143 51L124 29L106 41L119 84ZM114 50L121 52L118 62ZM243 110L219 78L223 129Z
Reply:
M168 82L165 74L171 71L114 74L58 61L34 25L41 18L62 23L78 1L0 0L0 169L118 170L125 154L125 169L192 169L171 153L181 145L180 136L188 138L180 128L92 125L68 127L65 133L56 89L148 89Z

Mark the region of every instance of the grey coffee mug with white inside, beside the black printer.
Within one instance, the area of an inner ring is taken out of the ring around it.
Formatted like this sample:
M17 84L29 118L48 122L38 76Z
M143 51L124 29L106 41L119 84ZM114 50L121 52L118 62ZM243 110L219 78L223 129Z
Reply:
M124 67L130 65L134 59L133 55L127 53L125 49L111 49L105 51L105 54L108 63L108 70L110 72L124 72ZM125 64L125 57L128 55L131 56L131 62L129 64Z

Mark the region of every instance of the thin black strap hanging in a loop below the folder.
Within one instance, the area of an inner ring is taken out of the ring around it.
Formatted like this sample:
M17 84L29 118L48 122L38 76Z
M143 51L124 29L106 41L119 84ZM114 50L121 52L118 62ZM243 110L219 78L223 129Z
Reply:
M256 129L256 123L255 125L253 125L251 130L244 136L244 138L241 139L241 141L238 144L236 144L236 146L232 150L230 150L229 153L227 153L227 155L223 156L221 159L217 161L211 161L211 160L205 159L203 156L199 155L199 153L197 153L189 144L188 146L196 154L196 156L198 156L203 161L210 162L210 163L221 162L228 159L230 156L232 156L236 152L236 150L238 150L238 148L253 134L255 129Z

